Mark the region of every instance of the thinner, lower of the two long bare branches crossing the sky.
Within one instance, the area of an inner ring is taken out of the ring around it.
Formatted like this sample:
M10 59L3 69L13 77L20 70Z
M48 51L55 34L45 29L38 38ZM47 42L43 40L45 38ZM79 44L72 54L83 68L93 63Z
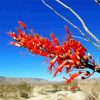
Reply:
M57 14L59 17L61 17L63 20L65 20L68 24L70 24L72 27L74 27L75 29L78 30L78 32L84 36L84 38L89 41L96 49L98 49L100 51L100 46L98 46L97 44L95 44L94 42L92 42L82 31L81 29L74 25L72 22L70 22L69 20L67 20L64 16L62 16L61 14L59 14L54 8L52 8L50 5L48 5L44 0L42 0L43 4L45 6L47 6L49 9L51 9L55 14Z

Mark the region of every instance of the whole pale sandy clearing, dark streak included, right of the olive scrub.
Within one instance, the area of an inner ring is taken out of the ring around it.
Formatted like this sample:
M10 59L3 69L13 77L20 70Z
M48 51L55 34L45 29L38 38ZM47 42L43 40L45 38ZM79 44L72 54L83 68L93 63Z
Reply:
M60 87L60 88L59 88ZM68 91L60 85L57 89L52 85L35 86L32 97L27 100L100 100L98 97L93 99L93 96L88 91Z

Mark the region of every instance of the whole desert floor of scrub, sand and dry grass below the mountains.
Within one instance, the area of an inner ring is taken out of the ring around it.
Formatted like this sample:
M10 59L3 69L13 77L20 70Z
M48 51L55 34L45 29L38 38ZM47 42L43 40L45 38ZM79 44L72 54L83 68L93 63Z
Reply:
M74 80L61 83L0 85L1 100L100 100L100 80ZM74 90L70 87L77 86Z

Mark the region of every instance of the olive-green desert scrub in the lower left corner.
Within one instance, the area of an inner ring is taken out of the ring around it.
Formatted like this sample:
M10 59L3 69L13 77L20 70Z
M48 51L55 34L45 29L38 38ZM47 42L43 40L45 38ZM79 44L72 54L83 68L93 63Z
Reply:
M20 84L5 84L0 85L0 98L2 99L23 99L29 98L32 93L33 86L26 82L20 82Z

